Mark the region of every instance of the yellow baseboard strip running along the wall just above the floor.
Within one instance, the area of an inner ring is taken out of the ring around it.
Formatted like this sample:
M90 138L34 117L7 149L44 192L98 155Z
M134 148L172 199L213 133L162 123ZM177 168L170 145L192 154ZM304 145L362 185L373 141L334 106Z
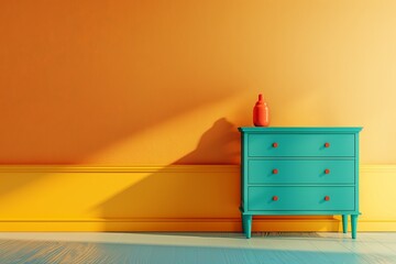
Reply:
M85 231L85 232L242 232L241 219L121 219L110 220L35 220L0 221L1 231ZM359 221L359 231L396 231L396 221ZM350 230L350 228L349 228ZM261 232L341 232L338 219L255 220L253 231Z

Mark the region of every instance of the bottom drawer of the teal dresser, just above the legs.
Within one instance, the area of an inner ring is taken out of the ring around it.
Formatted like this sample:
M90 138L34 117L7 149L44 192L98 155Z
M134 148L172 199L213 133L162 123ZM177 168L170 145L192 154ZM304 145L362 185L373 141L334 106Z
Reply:
M327 200L328 198L328 200ZM354 187L249 187L250 211L354 210Z

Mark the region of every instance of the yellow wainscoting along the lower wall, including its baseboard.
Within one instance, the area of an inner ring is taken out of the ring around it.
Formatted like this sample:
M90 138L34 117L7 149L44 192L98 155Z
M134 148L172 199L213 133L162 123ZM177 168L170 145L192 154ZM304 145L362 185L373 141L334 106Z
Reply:
M240 231L237 165L0 166L0 231ZM396 165L362 165L359 231L396 231ZM254 231L338 231L263 217Z

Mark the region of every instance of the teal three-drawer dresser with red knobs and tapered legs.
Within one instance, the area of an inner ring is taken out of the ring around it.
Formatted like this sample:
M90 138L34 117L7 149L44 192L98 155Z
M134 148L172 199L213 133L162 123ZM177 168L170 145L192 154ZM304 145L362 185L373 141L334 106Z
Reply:
M359 216L362 128L239 128L242 228L253 216L341 215L343 232Z

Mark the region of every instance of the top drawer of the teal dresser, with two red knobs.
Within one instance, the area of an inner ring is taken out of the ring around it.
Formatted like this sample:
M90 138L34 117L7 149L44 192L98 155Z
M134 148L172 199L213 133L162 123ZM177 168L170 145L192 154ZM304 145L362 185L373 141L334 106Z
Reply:
M249 156L354 156L354 134L249 134Z

